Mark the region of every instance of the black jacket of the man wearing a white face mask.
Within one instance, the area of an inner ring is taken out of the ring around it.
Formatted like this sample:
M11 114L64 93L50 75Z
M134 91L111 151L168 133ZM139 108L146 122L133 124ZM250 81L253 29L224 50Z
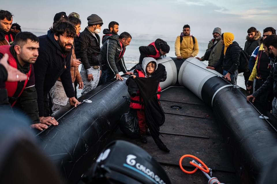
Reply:
M100 37L85 28L79 36L80 56L85 69L91 66L101 66Z

